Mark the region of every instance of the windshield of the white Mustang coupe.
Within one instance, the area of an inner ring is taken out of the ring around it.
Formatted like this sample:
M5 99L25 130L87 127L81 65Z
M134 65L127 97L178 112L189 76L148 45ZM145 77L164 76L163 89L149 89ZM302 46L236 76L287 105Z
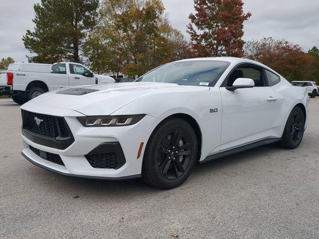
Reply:
M214 86L229 62L180 61L162 65L145 74L136 82L174 83L187 86Z

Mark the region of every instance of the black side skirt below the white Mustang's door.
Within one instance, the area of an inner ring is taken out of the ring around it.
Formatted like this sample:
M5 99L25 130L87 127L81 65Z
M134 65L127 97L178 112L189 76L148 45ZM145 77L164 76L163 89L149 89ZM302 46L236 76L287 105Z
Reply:
M240 146L240 147L237 147L237 148L232 148L232 149L229 149L227 151L223 151L223 152L220 152L220 153L216 153L216 154L210 155L210 156L206 157L204 160L199 161L199 162L200 163L204 163L204 162L207 162L207 161L210 161L210 160L214 160L214 159L217 159L217 158L225 157L225 156L228 156L228 155L231 155L231 154L234 154L234 153L239 153L239 152L251 149L251 148L256 148L256 147L259 147L259 146L262 146L262 145L265 145L265 144L269 144L269 143L273 143L273 142L277 142L277 141L280 141L280 140L281 140L281 138L266 138L266 139L263 139L263 140L260 140L260 141L257 141L257 142L253 142L253 143L246 144L246 145L243 145L243 146Z

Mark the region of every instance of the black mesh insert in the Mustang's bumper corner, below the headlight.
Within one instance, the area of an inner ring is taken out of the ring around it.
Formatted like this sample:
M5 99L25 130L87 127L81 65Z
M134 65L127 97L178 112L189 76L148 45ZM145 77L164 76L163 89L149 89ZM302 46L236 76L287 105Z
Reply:
M116 153L100 153L85 155L93 168L117 169L119 160Z

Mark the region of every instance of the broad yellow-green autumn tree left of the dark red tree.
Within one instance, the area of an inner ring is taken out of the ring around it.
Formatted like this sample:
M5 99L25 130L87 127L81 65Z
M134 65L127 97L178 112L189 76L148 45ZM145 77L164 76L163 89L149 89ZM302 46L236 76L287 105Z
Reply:
M184 36L164 16L161 0L103 0L98 23L84 52L101 73L141 76L189 55Z

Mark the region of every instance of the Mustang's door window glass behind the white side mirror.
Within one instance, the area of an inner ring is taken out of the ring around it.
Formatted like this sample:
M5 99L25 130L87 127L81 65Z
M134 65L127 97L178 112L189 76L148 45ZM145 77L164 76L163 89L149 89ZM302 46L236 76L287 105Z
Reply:
M263 69L253 65L237 67L229 76L227 86L232 86L238 78L250 78L255 82L255 87L265 86Z

